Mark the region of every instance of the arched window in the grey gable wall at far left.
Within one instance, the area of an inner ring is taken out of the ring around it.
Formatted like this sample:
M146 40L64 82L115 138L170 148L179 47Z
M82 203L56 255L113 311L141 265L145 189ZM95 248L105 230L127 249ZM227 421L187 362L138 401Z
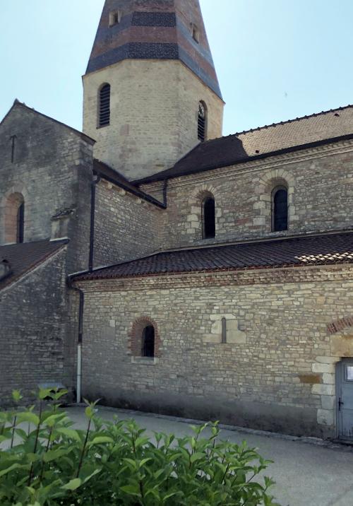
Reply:
M25 236L25 201L20 193L13 193L6 199L5 242L23 242Z

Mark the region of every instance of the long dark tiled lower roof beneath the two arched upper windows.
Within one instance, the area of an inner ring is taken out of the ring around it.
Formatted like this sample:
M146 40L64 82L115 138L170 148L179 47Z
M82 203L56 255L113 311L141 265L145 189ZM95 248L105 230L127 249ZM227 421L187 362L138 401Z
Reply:
M181 249L74 276L125 278L192 271L265 269L284 266L353 263L353 233L290 237L235 245Z

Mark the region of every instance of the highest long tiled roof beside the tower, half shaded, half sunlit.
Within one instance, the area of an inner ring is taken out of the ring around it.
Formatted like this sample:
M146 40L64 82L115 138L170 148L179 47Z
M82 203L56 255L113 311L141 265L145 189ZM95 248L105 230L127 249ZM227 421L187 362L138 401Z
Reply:
M174 167L136 183L227 167L283 151L297 151L316 144L338 141L345 136L353 138L353 105L199 143Z

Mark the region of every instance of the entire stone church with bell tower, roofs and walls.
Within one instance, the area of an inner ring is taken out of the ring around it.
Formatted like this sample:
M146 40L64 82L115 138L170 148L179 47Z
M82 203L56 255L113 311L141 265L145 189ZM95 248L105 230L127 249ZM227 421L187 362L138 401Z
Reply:
M0 393L353 440L353 106L222 136L198 0L106 0L83 132L0 124Z

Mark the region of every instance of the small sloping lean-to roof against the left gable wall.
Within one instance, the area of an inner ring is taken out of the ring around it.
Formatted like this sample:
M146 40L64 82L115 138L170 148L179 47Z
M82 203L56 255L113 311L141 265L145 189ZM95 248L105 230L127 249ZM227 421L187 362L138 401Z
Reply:
M11 267L10 276L6 276L3 281L0 280L0 290L41 264L67 242L67 240L52 242L43 240L0 246L0 260L7 260Z

